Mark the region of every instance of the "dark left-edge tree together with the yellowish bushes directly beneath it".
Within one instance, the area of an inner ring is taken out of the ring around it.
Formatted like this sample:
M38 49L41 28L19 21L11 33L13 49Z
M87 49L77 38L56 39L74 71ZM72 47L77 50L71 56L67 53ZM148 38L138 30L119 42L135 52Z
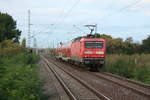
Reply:
M25 47L20 45L21 31L16 27L16 21L7 13L0 12L0 59L8 58L22 52Z

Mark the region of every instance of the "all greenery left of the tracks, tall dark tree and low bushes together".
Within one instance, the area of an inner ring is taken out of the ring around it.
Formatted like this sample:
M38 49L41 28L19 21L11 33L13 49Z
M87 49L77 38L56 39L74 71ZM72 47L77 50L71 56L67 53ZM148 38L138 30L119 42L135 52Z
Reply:
M0 13L0 100L45 100L39 78L38 55L27 52L16 21Z

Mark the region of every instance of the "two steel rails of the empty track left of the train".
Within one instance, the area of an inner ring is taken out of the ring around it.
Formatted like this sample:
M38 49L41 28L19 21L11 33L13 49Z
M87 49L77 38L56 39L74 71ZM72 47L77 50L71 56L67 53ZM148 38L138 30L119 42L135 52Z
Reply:
M55 67L58 67L59 69L61 69L62 71L64 71L65 73L67 73L69 76L71 76L73 79L75 79L76 81L78 81L80 84L82 84L84 87L86 87L87 89L89 89L93 94L95 94L100 100L110 100L108 97L106 97L105 95L103 95L102 93L100 93L99 91L97 91L96 89L94 89L93 87L91 87L90 85L88 85L86 82L84 82L83 80L81 80L80 78L76 77L75 75L73 75L72 73L64 70L63 68L61 68L60 66L58 66L55 63L49 62L45 57L42 56L42 58L44 59L45 63L48 65L48 68L54 73L54 75L56 76L56 78L59 80L59 82L61 83L61 85L63 86L64 90L66 91L66 93L68 94L68 96L70 97L71 100L78 100L73 93L71 92L71 90L65 85L65 83L63 82L63 80L61 79L61 77L59 76L59 74L57 73L57 71L52 67L52 64L55 65Z

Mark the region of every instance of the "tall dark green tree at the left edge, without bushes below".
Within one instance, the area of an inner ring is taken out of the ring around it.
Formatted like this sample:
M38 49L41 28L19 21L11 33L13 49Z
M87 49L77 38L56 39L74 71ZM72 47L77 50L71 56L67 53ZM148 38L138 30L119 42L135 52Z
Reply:
M13 40L19 42L21 31L16 29L16 21L7 13L0 12L0 42Z

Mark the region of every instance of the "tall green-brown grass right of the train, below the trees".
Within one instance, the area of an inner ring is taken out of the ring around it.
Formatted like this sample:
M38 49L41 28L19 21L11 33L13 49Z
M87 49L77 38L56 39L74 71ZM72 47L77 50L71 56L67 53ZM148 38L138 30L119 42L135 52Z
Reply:
M150 54L107 55L105 71L150 85Z

